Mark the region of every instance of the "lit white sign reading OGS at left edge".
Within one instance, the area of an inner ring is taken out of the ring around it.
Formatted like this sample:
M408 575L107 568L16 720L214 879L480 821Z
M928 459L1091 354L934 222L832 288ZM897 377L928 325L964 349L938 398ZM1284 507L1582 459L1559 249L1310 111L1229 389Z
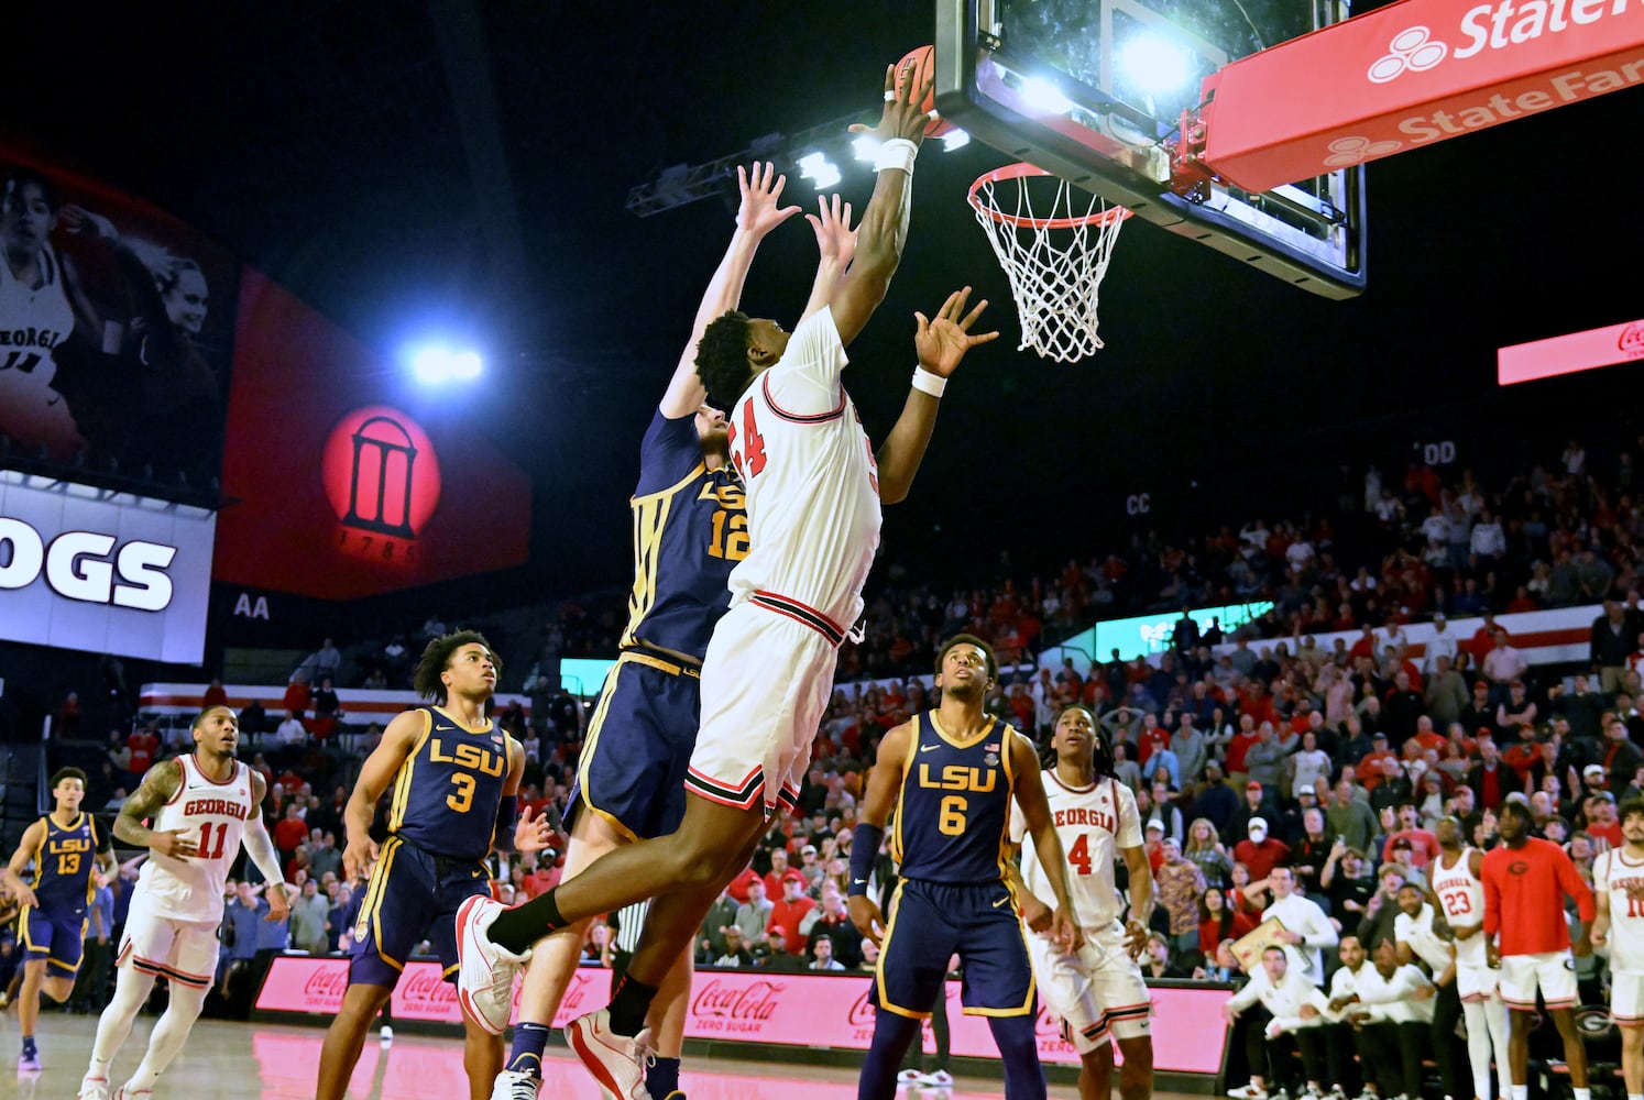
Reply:
M0 638L199 664L215 520L0 470Z

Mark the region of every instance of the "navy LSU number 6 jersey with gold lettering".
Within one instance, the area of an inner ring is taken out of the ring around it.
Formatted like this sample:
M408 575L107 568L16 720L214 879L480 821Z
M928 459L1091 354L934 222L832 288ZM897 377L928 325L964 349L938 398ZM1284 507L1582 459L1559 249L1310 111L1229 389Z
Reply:
M935 710L914 717L891 855L903 878L996 883L1009 857L1009 765L1014 730L990 719L965 742L950 738Z

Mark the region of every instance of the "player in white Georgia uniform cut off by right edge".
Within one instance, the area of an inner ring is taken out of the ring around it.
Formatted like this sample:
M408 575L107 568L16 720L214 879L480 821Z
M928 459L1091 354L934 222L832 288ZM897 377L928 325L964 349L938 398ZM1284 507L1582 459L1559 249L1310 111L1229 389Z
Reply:
M1621 804L1619 848L1593 860L1593 947L1609 945L1609 1018L1621 1028L1628 1100L1644 1100L1644 802Z

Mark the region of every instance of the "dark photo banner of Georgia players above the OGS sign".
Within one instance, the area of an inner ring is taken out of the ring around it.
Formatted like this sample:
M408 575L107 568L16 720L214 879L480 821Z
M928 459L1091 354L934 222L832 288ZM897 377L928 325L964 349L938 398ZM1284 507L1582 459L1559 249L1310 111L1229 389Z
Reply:
M0 434L13 464L210 487L238 260L168 214L5 148L0 250Z

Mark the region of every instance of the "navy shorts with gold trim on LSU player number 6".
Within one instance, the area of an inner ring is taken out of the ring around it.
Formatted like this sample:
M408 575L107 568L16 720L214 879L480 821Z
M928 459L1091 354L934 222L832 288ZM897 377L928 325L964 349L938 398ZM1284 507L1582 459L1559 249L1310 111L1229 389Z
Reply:
M950 886L911 878L891 899L875 1003L898 1016L929 1016L954 955L965 968L960 1003L967 1016L1037 1011L1028 939L1004 883Z

